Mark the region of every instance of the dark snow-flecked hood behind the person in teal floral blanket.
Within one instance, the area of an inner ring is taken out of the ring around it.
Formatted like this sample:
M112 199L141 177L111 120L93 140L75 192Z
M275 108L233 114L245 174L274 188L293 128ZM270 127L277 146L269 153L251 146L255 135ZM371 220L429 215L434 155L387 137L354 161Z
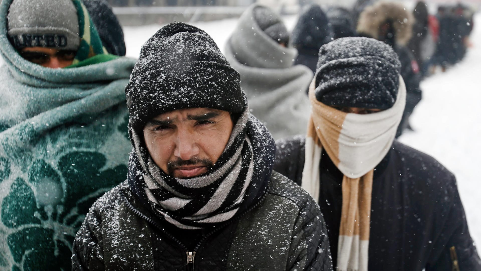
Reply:
M99 32L102 44L109 54L124 56L126 53L124 31L105 0L83 0L90 18Z

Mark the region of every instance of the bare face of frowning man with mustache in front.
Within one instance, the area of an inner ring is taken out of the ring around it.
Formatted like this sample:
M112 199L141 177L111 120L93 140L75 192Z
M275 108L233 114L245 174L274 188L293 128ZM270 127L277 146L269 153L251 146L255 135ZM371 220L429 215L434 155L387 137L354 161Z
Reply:
M152 160L176 178L202 175L226 148L234 123L227 111L178 109L153 118L144 127Z

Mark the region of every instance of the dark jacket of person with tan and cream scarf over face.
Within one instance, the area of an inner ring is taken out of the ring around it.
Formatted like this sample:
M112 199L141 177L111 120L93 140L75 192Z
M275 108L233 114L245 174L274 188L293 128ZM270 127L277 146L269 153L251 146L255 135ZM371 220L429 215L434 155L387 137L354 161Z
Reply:
M274 168L298 184L304 168L304 144L304 136L277 142ZM342 173L325 152L319 171L319 205L335 263ZM432 157L394 141L374 171L368 270L452 271L453 246L459 270L481 270L455 176Z

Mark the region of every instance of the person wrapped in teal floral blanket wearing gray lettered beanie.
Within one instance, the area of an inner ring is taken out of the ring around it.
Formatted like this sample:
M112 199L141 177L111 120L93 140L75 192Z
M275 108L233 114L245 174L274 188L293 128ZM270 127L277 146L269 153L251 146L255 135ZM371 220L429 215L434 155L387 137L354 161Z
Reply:
M0 270L71 269L89 206L127 174L135 60L107 52L78 0L1 1Z

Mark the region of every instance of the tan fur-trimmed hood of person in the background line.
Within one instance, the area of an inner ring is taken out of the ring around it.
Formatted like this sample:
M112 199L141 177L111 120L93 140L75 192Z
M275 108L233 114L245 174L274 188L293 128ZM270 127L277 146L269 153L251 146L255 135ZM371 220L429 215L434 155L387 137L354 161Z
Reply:
M396 44L405 46L411 39L415 19L402 4L378 2L367 7L359 16L357 32L379 39L379 28L388 19L393 21Z

